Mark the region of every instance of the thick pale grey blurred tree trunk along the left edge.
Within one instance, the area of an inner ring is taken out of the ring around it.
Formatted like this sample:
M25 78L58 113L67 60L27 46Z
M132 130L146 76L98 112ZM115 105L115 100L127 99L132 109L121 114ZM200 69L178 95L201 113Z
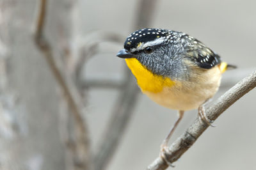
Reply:
M47 2L44 34L54 60L62 62L58 66L70 56L73 2ZM40 1L0 0L0 9L1 169L89 169L76 168L67 151L70 132L61 130L74 125L68 121L70 108L60 102L60 84L35 43Z

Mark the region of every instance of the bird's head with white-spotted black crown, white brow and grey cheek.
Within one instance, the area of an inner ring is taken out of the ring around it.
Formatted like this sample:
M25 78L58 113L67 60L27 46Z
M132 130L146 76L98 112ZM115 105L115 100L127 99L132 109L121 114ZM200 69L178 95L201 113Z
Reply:
M179 36L179 32L166 29L140 29L127 37L124 49L116 56L136 58L150 72L168 76L173 72L175 54L180 50Z

